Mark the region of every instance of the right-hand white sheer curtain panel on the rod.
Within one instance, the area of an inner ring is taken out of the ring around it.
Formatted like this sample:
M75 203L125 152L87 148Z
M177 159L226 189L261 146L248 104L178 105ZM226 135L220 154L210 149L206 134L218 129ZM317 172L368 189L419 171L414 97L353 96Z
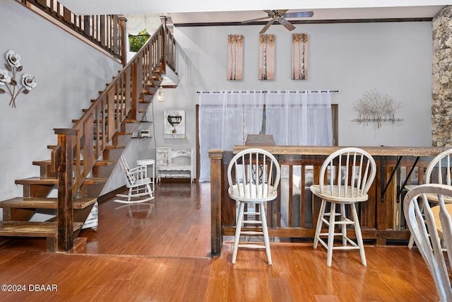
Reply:
M266 134L279 146L332 146L331 93L269 91Z

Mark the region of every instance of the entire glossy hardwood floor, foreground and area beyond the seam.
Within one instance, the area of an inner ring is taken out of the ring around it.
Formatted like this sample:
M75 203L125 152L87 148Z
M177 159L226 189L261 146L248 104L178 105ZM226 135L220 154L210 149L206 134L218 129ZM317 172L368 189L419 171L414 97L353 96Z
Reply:
M329 268L311 243L271 243L271 266L263 250L239 250L232 265L230 238L221 257L208 257L209 185L164 182L153 209L100 204L97 232L83 231L86 254L2 238L0 284L11 291L0 301L438 301L422 257L406 246L366 245L367 267L359 252L336 251Z

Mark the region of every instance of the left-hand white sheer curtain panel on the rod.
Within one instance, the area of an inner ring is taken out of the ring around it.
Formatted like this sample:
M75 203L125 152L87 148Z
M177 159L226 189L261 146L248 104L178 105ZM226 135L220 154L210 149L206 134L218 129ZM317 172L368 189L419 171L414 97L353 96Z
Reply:
M243 145L248 134L261 132L261 91L201 92L199 95L199 181L210 180L210 149L232 150Z

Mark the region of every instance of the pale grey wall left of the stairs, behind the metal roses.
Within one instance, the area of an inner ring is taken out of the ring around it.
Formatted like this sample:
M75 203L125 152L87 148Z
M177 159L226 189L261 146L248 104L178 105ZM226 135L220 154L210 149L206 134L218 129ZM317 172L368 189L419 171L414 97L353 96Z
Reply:
M0 199L22 196L14 181L40 175L32 161L50 158L57 144L54 128L70 128L121 65L13 0L0 2L0 66L4 54L22 57L23 73L34 74L37 88L19 95L17 108L0 94Z

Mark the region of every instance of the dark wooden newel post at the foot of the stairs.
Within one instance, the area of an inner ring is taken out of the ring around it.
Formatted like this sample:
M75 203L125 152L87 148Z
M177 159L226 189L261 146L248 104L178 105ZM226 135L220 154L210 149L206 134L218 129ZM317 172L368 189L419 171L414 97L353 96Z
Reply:
M73 144L76 129L55 129L58 134L58 237L57 250L66 252L73 245Z

